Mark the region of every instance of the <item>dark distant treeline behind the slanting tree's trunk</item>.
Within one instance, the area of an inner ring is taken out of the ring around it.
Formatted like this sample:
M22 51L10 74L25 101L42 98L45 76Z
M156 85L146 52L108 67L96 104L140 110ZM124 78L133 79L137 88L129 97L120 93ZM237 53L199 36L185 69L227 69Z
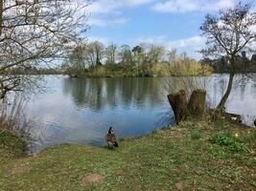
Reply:
M230 63L226 56L217 59L204 58L199 61L202 65L211 66L214 73L229 73ZM236 73L256 73L256 54L252 54L250 58L245 52L235 57L234 68Z

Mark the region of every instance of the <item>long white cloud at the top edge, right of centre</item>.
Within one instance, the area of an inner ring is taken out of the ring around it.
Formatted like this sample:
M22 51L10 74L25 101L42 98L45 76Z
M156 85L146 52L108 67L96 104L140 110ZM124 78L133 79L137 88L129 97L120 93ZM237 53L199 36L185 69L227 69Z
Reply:
M154 4L151 9L160 12L219 11L234 5L235 0L168 0Z

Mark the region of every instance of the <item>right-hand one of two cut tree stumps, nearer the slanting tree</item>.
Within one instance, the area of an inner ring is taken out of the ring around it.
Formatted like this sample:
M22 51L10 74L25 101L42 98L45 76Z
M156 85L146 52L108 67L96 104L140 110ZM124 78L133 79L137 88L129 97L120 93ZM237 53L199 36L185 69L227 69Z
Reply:
M206 91L204 90L196 90L192 93L188 104L188 110L191 115L202 117L205 109L205 98Z

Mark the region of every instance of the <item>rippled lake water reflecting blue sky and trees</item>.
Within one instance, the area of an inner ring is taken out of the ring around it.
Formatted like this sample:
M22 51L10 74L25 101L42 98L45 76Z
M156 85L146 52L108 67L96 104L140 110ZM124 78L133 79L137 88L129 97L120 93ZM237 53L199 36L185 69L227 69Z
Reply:
M105 134L112 126L119 138L150 134L174 124L167 100L175 92L179 77L170 78L69 78L45 76L47 92L36 94L27 105L32 137L38 138L32 152L61 143L105 145ZM198 77L213 106L223 94L228 76ZM227 111L243 115L252 125L256 116L256 75L236 77L227 102ZM167 89L167 81L169 86ZM180 84L178 86L181 86Z

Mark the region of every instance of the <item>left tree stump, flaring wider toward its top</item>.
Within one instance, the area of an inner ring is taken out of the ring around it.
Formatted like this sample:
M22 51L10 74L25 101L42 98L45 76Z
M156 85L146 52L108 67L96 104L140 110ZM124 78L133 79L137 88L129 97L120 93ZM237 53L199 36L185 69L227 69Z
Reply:
M186 92L181 90L176 94L168 95L168 100L174 110L176 124L178 124L181 120L185 119L188 114Z

